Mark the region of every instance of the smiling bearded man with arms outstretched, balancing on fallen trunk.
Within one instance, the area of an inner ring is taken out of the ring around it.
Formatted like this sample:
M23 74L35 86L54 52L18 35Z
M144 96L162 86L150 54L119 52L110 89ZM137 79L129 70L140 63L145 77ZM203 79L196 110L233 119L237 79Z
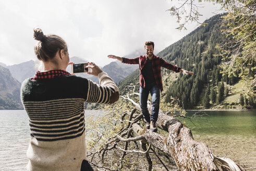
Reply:
M173 70L175 72L184 72L185 74L193 74L193 72L184 70L173 64L165 62L159 56L155 56L154 42L148 41L144 44L147 55L141 55L133 59L119 57L115 55L108 55L108 58L120 60L125 64L139 64L140 68L140 108L144 119L147 121L146 128L153 132L157 131L156 120L159 114L160 90L163 91L161 67ZM150 117L147 108L147 101L149 92L152 96L152 115Z

